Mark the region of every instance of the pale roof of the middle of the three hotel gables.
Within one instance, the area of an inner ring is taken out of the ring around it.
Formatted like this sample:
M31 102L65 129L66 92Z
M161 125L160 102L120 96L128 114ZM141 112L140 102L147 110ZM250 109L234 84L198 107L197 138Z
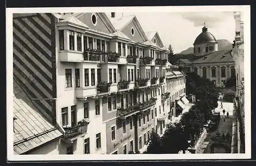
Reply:
M123 16L123 17L115 17L115 18L111 18L109 17L110 21L112 22L112 24L114 25L116 30L122 31L124 29L125 26L127 26L130 22L134 21L135 26L137 26L137 29L140 33L140 35L142 36L144 41L147 41L147 37L145 32L143 31L137 17L135 15L129 15L129 16Z

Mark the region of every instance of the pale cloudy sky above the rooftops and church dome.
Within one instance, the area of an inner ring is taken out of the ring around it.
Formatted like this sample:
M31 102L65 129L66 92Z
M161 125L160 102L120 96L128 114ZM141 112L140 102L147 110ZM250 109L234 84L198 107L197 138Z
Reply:
M233 12L137 12L116 13L116 16L136 15L144 32L157 31L163 44L172 45L175 53L193 47L202 32L204 21L208 32L218 39L234 40Z

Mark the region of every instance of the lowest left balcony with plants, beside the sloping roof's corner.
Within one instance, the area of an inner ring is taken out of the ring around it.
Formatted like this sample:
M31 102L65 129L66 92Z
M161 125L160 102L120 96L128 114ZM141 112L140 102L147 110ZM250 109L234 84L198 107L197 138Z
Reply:
M72 137L75 137L82 133L86 133L88 124L89 124L89 121L82 120L82 121L78 122L78 124L76 126L63 127L63 129L66 131L66 133L63 136L63 139L71 139Z

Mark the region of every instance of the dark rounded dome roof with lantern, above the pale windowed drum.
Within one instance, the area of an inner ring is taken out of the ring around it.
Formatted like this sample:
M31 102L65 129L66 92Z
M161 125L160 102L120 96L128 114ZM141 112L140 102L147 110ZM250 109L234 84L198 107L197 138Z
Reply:
M200 35L198 35L198 37L194 42L194 45L203 44L203 43L217 43L214 35L212 35L207 31L207 27L204 26L202 30L203 32Z

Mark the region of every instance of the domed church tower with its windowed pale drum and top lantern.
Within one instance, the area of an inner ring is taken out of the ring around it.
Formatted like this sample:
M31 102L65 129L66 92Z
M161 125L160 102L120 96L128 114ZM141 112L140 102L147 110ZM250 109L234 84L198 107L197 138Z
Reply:
M218 51L218 42L214 35L207 31L207 27L202 28L202 33L198 35L194 42L195 56L204 56L205 54Z

